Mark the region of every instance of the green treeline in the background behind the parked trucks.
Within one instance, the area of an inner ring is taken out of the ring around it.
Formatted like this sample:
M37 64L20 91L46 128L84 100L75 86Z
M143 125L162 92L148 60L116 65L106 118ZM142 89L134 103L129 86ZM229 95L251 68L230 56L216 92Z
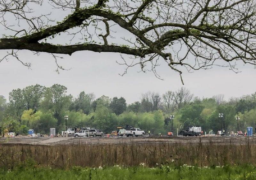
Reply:
M153 134L166 134L172 129L176 134L177 129L189 125L200 125L206 133L210 129L217 133L221 128L244 132L256 124L256 92L226 101L223 94L200 98L181 87L164 94L148 91L141 94L139 101L127 105L123 97L96 98L85 91L74 97L63 85L36 84L13 89L8 98L9 102L0 95L0 126L17 133L34 129L47 134L50 128L60 133L66 130L64 116L68 116L68 127L95 127L104 133L126 124ZM223 113L222 118L219 113Z

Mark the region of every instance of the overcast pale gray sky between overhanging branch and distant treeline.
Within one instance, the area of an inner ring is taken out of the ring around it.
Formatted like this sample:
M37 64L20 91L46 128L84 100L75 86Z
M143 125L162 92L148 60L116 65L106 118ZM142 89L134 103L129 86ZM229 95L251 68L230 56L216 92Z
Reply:
M44 9L51 11L48 6L49 4L46 4L47 8ZM41 13L39 10L43 7L37 8L35 8L35 12ZM67 14L67 11L52 11L56 21L61 21ZM6 16L6 18L8 18L9 24L15 22L15 18L11 19L10 16ZM0 31L4 31L3 27L0 27ZM5 30L4 33L9 34L8 30ZM120 34L115 34L115 37L124 35L126 36L126 32L121 31ZM57 43L61 43L61 41L65 43L64 40L67 39L56 38ZM5 52L5 50L0 50L0 56L3 57ZM161 78L164 79L160 80L152 72L138 73L139 67L130 68L123 77L118 75L122 74L125 68L116 63L116 61L122 62L118 53L81 51L72 54L72 56L64 55L63 57L64 59L58 60L59 65L71 69L60 71L60 74L54 71L57 68L55 60L47 53L36 56L27 50L20 51L19 58L24 62L31 62L32 70L14 58L9 59L8 62L2 61L0 63L0 95L8 99L8 94L12 89L22 89L35 84L50 87L57 83L66 86L68 94L72 94L74 97L77 97L81 91L85 91L86 93L94 93L97 98L102 95L110 98L122 96L130 104L134 101L140 101L142 93L152 91L163 94L168 90L176 91L183 86L179 73L172 71L164 62L156 69ZM184 87L201 98L224 94L225 99L228 100L230 97L254 93L256 91L254 66L238 64L238 67L242 72L237 74L228 68L217 66L210 70L200 70L194 73L183 71Z

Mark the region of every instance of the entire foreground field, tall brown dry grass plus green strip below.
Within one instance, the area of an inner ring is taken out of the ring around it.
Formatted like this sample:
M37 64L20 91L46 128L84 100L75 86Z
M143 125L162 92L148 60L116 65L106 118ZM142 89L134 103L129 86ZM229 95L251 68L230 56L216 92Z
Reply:
M0 179L256 179L256 145L0 144Z

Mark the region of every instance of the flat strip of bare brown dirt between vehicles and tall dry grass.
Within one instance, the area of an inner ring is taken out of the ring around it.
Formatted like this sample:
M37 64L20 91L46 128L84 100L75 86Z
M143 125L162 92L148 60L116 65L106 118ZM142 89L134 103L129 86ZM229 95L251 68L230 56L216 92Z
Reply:
M97 145L97 144L150 144L150 143L214 143L214 144L256 144L256 136L201 136L201 137L177 137L177 136L144 136L144 137L14 137L0 138L0 144L31 144L31 145Z

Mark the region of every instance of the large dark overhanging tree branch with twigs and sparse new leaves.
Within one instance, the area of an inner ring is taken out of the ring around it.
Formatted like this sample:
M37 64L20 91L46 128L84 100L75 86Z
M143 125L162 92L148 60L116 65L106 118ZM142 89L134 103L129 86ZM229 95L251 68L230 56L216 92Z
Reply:
M160 63L180 75L182 67L237 71L237 60L255 65L254 9L253 0L1 1L0 49L9 51L0 61L14 56L30 66L17 56L22 49L55 58L89 50L131 55L119 64L140 65L157 77ZM54 14L63 19L55 22Z

